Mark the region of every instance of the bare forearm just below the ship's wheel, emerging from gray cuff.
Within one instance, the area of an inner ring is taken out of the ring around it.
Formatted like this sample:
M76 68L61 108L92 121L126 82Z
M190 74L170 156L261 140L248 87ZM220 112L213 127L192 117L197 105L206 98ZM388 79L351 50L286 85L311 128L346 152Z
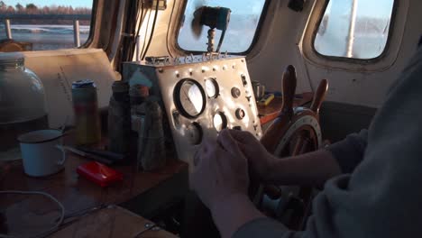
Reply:
M326 180L341 174L337 160L326 150L273 161L266 182L275 185L322 187Z

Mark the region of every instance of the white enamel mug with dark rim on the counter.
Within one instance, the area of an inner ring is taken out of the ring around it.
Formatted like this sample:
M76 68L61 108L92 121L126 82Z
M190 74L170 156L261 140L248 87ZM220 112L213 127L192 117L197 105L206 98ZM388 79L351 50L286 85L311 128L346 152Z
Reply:
M48 176L64 168L66 151L62 149L63 133L41 130L18 137L21 143L23 169L33 177Z

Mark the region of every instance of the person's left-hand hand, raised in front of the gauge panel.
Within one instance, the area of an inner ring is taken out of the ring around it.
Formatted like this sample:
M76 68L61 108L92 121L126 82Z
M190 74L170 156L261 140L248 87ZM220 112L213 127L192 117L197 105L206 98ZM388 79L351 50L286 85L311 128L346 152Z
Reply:
M248 161L228 130L216 142L206 140L194 158L190 185L211 210L233 197L247 196Z

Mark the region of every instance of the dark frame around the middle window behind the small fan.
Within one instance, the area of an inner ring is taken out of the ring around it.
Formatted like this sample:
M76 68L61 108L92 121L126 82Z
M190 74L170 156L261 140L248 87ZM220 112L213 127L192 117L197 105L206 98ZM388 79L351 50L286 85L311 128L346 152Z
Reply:
M180 12L182 16L185 15L186 7L188 5L188 1L191 1L191 0L185 0L185 1L183 1L183 6L182 6L181 12ZM232 55L248 55L253 50L253 47L255 46L255 44L258 41L259 36L261 35L261 30L263 28L262 26L263 26L263 23L265 21L265 15L268 13L268 9L269 9L269 5L270 4L271 4L271 0L265 0L265 3L263 5L263 7L262 7L262 12L261 12L260 20L258 21L258 25L256 26L255 34L254 34L254 36L252 38L252 42L251 42L251 45L249 46L249 48L247 50L243 51L243 52L237 52L236 53L236 52L230 52L230 51L228 51L228 53L230 53ZM180 27L182 25L182 22L181 22L182 19L184 19L184 18L183 17L180 18L180 21L177 24L177 28L176 28L177 29L176 34L175 34L175 46L176 46L176 49L179 50L179 51L181 51L181 52L184 52L186 54L202 54L202 53L204 53L205 51L185 50L185 49L183 49L183 48L180 47L180 45L179 45L179 33L180 33Z

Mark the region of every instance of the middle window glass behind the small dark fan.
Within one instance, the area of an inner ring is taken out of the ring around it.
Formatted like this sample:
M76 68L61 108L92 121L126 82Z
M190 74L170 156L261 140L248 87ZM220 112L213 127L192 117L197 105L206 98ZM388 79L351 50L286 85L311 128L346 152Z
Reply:
M181 24L178 43L182 50L206 51L208 27L204 26L197 37L191 27L195 10L200 6L224 6L232 10L230 23L225 33L222 52L243 53L250 49L261 20L265 0L189 0L185 10L184 23ZM221 31L216 30L216 44L220 41Z

